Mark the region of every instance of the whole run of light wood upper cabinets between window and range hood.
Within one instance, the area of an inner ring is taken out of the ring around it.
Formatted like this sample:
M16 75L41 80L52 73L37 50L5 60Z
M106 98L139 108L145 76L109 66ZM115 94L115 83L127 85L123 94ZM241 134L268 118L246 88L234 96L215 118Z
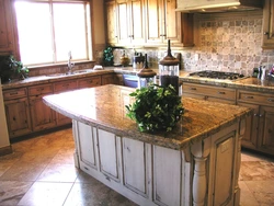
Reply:
M193 14L175 12L176 0L106 1L107 43L115 46L193 46Z

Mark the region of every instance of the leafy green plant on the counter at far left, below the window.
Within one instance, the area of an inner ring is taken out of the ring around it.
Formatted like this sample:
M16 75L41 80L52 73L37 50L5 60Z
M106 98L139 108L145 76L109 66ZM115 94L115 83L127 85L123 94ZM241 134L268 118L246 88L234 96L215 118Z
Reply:
M12 55L0 56L0 78L2 82L10 81L13 78L25 79L27 76L28 69Z

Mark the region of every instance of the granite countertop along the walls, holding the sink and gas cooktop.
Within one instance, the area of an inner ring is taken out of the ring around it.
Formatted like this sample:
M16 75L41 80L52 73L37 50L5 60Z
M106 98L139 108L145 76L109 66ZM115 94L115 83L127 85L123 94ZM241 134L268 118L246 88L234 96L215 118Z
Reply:
M25 80L15 80L8 83L3 83L2 88L5 89L13 89L20 87L27 87L33 84L39 83L47 83L47 82L56 82L60 80L71 80L77 79L79 77L91 77L104 73L126 73L126 75L137 75L140 69L133 69L133 67L105 67L104 70L92 70L89 69L89 72L79 72L77 75L70 76L59 76L59 73L49 75L49 76L37 76L31 77ZM152 69L156 73L159 73L158 69ZM274 80L273 81L261 81L256 78L247 77L240 80L216 80L216 79L208 79L208 78L197 78L189 76L190 71L180 71L180 80L183 82L192 82L192 83L202 83L207 85L218 85L225 88L232 88L232 89L247 89L250 91L258 91L258 92L274 92Z

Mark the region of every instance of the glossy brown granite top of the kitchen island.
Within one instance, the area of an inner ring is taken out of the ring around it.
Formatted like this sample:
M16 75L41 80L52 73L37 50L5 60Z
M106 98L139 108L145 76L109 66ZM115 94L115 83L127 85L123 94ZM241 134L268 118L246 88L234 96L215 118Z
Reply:
M232 125L251 112L250 108L237 105L183 98L185 113L178 126L171 133L151 135L140 133L136 123L125 115L124 105L128 104L128 94L134 90L109 84L47 95L44 102L72 119L113 131L122 137L178 150Z

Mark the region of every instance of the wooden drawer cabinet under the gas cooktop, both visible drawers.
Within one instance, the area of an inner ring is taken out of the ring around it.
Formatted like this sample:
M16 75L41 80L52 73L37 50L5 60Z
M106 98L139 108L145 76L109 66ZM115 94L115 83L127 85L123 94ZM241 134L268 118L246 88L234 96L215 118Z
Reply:
M213 102L236 104L236 90L202 85L196 83L183 83L183 96L197 98L201 100L207 100Z

